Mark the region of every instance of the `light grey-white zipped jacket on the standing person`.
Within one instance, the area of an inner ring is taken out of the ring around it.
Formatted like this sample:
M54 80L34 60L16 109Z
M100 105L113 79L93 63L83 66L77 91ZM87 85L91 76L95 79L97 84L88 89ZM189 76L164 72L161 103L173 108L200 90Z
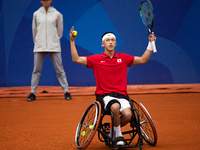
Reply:
M40 7L33 14L32 22L34 52L61 52L63 16L52 6L46 12Z

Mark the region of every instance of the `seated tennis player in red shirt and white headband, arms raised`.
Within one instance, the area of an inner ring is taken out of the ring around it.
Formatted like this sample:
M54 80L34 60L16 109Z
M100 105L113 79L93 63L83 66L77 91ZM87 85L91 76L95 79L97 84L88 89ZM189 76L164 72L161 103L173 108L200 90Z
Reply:
M113 113L114 136L122 139L117 142L117 145L124 145L121 127L126 125L132 117L131 106L127 101L127 67L148 62L153 51L151 42L156 41L156 37L154 33L149 35L147 49L141 57L138 57L116 53L116 36L112 32L106 32L102 35L103 53L79 56L75 45L76 36L72 35L73 31L74 27L70 31L72 60L93 69L96 80L96 94L103 99L104 109L111 110Z

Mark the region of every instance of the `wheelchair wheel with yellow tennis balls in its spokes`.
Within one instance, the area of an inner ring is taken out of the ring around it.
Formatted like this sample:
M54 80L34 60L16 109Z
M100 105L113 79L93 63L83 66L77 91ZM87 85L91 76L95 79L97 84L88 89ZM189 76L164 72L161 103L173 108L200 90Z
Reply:
M83 113L75 135L78 149L84 150L91 143L99 125L101 105L99 102L91 103Z

